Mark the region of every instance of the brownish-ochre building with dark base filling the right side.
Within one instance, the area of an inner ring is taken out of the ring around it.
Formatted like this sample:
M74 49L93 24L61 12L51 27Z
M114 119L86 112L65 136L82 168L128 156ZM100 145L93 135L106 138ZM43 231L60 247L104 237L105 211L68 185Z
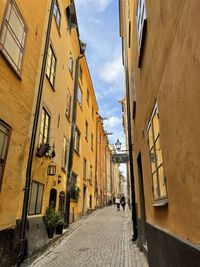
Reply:
M150 267L195 267L200 262L200 2L119 4L127 135L129 145L134 143L134 239L138 230Z

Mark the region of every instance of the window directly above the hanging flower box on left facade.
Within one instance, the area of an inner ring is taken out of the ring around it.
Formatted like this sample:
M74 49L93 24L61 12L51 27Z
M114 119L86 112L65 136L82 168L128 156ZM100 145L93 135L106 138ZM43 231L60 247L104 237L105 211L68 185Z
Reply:
M49 131L50 131L50 116L47 111L42 109L42 119L40 126L39 144L49 143Z

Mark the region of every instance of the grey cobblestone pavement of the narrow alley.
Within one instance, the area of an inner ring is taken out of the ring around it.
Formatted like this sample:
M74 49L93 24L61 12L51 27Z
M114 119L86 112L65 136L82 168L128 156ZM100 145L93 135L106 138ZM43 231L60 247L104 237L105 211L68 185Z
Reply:
M28 266L148 267L143 253L130 241L130 224L127 211L114 206L98 210Z

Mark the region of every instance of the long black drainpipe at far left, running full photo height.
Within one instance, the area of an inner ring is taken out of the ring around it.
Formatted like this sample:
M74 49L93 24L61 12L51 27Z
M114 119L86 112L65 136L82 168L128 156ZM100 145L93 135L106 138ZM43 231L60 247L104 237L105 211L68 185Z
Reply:
M40 73L40 82L39 82L39 87L38 87L37 102L36 102L35 111L34 111L35 116L34 116L33 128L32 128L32 133L31 133L31 142L30 142L30 148L29 148L28 162L27 162L27 167L26 167L24 201L23 201L22 218L21 218L20 233L19 233L19 254L17 256L18 266L27 256L27 248L28 248L27 243L28 242L26 238L26 224L27 224L28 202L29 202L30 184L31 184L31 171L32 171L35 139L36 139L36 133L37 133L37 127L38 127L40 104L41 104L42 91L43 91L43 83L44 83L44 77L45 77L45 68L46 68L48 48L49 48L53 8L54 8L54 0L51 1L51 7L49 11L49 20L48 20L48 26L47 26L44 55L43 55L41 73Z

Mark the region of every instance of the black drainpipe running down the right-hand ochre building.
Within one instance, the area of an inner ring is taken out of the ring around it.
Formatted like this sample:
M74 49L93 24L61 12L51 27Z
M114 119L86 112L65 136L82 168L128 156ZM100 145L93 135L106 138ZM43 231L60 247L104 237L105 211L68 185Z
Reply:
M130 177L131 177L131 197L132 197L132 221L133 221L133 237L132 241L136 241L138 237L137 230L137 213L136 213L136 201L135 201L135 179L133 170L133 144L131 137L131 112L130 112L130 89L129 89L129 74L128 63L125 65L126 72L126 110L127 110L127 124L128 124L128 148L129 148L129 163L130 163Z

